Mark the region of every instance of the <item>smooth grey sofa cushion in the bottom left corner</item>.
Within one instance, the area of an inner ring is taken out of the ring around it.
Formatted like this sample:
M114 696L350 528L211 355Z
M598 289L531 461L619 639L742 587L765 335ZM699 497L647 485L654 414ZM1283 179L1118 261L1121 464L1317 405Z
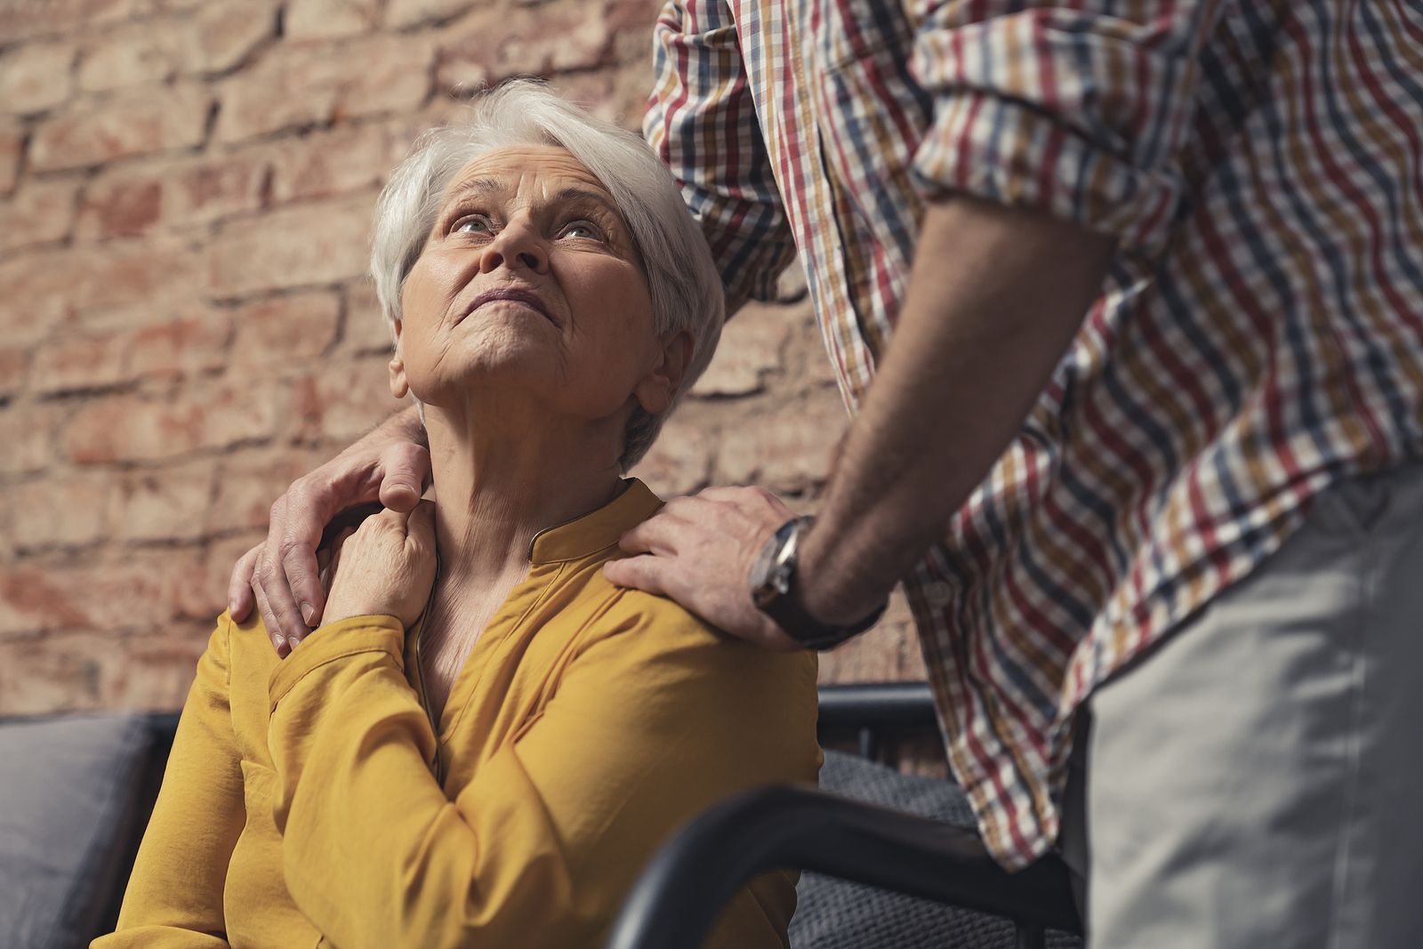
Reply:
M88 943L141 832L152 754L152 728L138 714L0 723L6 946Z

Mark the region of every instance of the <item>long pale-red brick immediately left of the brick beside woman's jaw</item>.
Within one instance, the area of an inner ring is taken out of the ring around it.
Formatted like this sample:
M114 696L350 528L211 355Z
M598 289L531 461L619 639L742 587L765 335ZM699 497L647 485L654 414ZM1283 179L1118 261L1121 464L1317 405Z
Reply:
M110 396L80 408L63 433L80 464L151 461L242 441L276 430L277 396L249 381L196 384L172 400Z

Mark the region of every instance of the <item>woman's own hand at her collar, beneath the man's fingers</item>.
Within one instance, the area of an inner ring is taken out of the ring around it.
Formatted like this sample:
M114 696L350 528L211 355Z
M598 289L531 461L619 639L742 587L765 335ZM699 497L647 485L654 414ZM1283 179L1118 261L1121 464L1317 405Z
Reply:
M390 508L346 538L332 563L324 623L351 616L394 616L407 629L420 619L435 580L435 505L410 514Z

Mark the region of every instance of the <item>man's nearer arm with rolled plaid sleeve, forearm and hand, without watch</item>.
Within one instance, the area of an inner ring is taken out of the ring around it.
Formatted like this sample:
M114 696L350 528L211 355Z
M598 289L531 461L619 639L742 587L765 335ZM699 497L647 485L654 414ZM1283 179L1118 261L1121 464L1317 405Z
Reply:
M928 206L895 337L801 549L811 615L864 616L1009 444L1113 249L1155 256L1218 0L925 0L911 68L933 97L914 159ZM760 489L676 499L625 538L618 583L791 647L750 565L787 512Z

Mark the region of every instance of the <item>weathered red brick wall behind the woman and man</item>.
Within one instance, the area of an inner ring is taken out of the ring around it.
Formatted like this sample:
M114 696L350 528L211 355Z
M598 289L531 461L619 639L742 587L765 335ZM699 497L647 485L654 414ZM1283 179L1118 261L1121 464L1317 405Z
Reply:
M0 714L176 707L290 479L394 407L383 174L517 73L636 127L657 0L0 3ZM746 310L638 474L814 509L804 303ZM827 680L921 674L902 605Z

